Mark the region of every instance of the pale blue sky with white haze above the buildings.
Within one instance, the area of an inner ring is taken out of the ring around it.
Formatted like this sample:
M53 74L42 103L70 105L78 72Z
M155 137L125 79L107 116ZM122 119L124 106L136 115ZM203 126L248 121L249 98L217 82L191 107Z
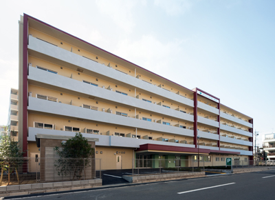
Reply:
M10 88L18 88L18 20L25 12L219 97L254 118L259 145L275 128L275 1L3 1L1 8L0 124L8 121Z

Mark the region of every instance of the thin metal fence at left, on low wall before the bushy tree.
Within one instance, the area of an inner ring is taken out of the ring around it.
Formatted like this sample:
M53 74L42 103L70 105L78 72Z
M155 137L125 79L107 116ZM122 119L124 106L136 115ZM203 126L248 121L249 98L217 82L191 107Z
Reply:
M0 186L101 178L100 159L0 159Z

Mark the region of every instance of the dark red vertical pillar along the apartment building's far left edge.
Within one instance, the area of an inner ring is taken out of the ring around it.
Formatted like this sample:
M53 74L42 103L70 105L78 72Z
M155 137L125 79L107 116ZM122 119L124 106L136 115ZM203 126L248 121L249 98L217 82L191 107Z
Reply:
M28 15L23 18L23 151L24 157L28 157Z

